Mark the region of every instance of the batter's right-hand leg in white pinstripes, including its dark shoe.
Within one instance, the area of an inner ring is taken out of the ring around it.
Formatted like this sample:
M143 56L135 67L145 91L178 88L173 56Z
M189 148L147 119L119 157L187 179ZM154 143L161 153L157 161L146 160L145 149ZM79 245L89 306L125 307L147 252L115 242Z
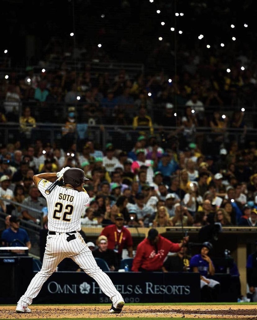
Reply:
M120 313L124 305L124 300L120 292L117 291L109 276L97 266L91 250L85 245L84 240L80 236L84 242L83 244L79 236L75 240L70 241L70 243L74 241L72 246L74 247L74 251L77 252L76 256L70 256L70 258L74 260L87 275L91 276L97 282L100 289L112 300L111 310L113 310L113 312L111 310L110 312Z

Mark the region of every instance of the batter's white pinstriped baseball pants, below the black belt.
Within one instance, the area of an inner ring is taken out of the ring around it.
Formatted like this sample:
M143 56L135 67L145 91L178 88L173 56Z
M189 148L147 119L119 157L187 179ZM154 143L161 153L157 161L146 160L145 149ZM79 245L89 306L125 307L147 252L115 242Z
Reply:
M117 291L109 276L97 266L91 250L80 233L76 232L75 235L76 238L69 242L66 240L68 235L65 233L59 234L56 232L56 235L47 236L42 268L31 280L27 291L21 296L18 304L25 307L30 305L33 298L38 295L42 285L64 258L71 258L87 275L95 279L102 292L112 300L114 306L118 300L122 299L120 292Z

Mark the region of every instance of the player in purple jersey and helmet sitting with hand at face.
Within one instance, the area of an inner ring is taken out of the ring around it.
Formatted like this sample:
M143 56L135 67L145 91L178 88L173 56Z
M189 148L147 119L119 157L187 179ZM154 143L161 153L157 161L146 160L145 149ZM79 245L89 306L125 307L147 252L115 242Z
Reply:
M210 242L202 244L201 253L194 255L189 262L190 270L200 273L201 301L213 302L219 300L220 283L214 279L208 279L208 276L215 274L215 268L209 257L212 249Z

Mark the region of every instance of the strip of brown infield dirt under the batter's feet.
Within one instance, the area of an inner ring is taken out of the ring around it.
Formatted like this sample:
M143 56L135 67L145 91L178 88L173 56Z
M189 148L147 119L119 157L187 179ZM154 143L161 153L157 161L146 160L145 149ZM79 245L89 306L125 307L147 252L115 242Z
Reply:
M106 318L106 317L183 317L257 319L256 305L205 305L205 306L128 306L118 315L108 312L109 306L31 306L31 313L18 314L15 306L1 306L0 319L30 318Z

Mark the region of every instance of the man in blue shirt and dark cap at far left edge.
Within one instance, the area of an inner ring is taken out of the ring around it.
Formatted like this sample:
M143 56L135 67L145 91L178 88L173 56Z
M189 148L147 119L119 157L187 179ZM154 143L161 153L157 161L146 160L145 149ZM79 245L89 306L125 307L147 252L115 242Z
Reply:
M10 217L10 228L3 231L2 244L12 247L22 247L23 245L25 245L29 249L31 248L29 235L25 229L20 228L20 219L18 219L17 217ZM14 250L12 252L24 253L25 251Z

